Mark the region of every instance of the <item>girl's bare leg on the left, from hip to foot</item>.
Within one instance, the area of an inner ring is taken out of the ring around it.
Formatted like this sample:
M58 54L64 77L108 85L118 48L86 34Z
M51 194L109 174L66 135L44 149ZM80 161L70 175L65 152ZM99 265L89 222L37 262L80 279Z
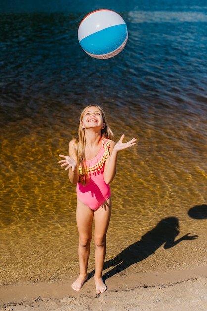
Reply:
M92 238L92 222L94 212L80 200L77 200L76 221L79 232L79 265L80 275L71 285L75 291L79 291L88 279L88 259L90 254L90 242Z

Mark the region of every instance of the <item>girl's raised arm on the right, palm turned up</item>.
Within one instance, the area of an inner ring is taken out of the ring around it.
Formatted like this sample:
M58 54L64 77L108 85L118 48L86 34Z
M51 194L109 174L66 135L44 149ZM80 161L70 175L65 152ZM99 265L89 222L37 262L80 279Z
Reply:
M120 140L115 144L113 141L110 145L110 156L108 157L107 161L105 162L105 169L104 169L104 180L107 184L111 183L116 175L116 164L117 164L117 157L118 152L120 150L129 148L136 143L136 138L131 139L129 142L123 143L124 134L121 136Z

